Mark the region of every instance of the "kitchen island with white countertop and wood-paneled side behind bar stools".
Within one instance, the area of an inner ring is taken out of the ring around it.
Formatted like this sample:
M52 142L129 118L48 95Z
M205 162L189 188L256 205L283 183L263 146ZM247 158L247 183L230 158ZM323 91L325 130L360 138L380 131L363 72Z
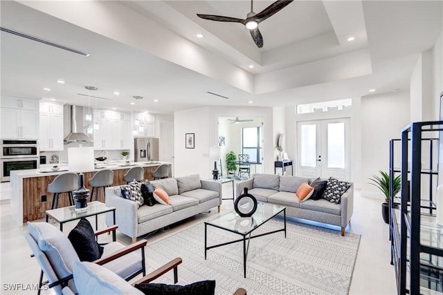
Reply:
M161 164L169 164L170 162L131 162L125 164L124 162L116 162L112 164L98 164L95 169L83 171L84 186L91 191L88 185L88 180L93 175L102 169L111 169L114 171L114 181L112 186L126 184L123 180L123 175L134 166L142 166L145 169L145 179L152 180L152 171L154 171ZM41 169L15 170L10 172L11 183L11 199L10 199L10 213L12 219L19 227L24 223L32 220L39 220L44 218L46 210L51 209L53 201L53 194L48 193L48 184L53 182L57 175L68 172L67 164L59 164L60 171L51 171L51 167L43 167ZM170 169L171 171L172 169ZM73 171L80 173L80 171ZM95 200L91 196L88 200ZM65 196L66 195L66 196ZM98 200L105 202L102 189L99 190ZM60 196L58 207L69 206L69 199L67 194Z

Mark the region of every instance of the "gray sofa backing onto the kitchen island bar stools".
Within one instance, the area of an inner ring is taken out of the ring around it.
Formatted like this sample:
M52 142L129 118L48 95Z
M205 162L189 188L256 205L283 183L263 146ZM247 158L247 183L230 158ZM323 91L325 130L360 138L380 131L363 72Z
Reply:
M213 207L218 207L220 211L222 189L219 182L200 180L199 175L189 175L154 180L151 183L168 193L170 204L156 203L152 207L143 204L138 208L136 202L118 196L116 189L120 187L106 189L105 204L116 207L118 230L131 237L132 242L135 242L138 236ZM108 226L113 225L111 214L107 214L106 223Z

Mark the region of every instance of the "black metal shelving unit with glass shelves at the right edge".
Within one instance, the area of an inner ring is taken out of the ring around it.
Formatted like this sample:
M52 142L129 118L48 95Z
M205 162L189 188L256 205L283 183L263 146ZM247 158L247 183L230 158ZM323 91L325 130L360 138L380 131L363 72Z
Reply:
M390 240L397 292L420 294L420 288L443 291L443 227L435 222L437 138L423 133L443 131L443 121L417 122L390 140ZM395 144L401 144L401 168L395 168ZM428 143L428 169L422 169L422 147ZM408 161L410 167L408 170ZM393 175L401 173L401 197L392 198ZM422 181L428 175L426 183ZM423 186L428 196L422 196ZM441 244L441 245L440 245Z

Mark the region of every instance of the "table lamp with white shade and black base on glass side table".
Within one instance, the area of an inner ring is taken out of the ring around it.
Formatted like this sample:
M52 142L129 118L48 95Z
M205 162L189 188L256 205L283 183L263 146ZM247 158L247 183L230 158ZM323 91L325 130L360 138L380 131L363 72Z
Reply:
M83 171L94 169L94 148L80 147L68 148L68 166L69 171L79 171L78 189L74 191L75 211L85 212L88 210L87 199L89 198L89 189L84 187Z

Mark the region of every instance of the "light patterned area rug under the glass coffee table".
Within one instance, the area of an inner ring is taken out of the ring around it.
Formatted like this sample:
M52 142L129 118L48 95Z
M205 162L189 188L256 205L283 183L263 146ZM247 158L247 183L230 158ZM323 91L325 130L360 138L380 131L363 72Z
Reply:
M283 227L282 218L269 220L253 236ZM208 245L241 236L208 227ZM243 276L243 243L208 250L204 258L204 223L164 238L146 248L147 265L155 269L175 257L179 285L215 280L215 294L233 294L243 287L248 294L347 294L359 249L360 236L287 220L283 232L251 240ZM172 274L161 278L172 283Z

